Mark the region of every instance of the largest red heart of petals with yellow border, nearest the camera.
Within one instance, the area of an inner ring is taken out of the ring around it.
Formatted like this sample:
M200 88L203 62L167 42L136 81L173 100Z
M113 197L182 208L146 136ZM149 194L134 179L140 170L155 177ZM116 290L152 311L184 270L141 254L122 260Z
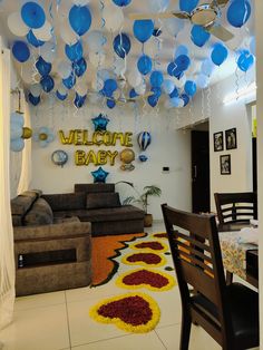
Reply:
M134 333L152 331L159 321L156 301L145 293L128 293L106 299L94 305L89 315L97 322L114 323Z

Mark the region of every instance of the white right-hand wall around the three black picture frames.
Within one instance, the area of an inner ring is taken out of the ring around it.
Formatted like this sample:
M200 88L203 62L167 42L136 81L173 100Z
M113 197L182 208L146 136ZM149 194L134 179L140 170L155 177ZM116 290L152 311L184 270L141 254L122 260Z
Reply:
M253 96L240 99L230 105L224 105L224 97L236 90L237 86L246 86L254 80L254 69L240 74L238 79L232 76L199 93L192 101L188 109L182 111L177 128L185 128L210 117L210 166L211 166L211 208L215 210L215 192L242 192L252 189L252 140L251 140L251 109L246 104ZM245 77L245 79L244 79ZM214 152L213 134L236 128L237 148L225 148ZM221 175L220 156L231 155L231 175Z

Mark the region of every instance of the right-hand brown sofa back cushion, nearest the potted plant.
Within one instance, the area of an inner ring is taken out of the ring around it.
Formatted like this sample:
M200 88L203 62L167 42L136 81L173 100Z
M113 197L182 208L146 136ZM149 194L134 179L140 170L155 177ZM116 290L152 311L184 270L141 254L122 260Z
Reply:
M87 210L120 206L118 193L88 193Z

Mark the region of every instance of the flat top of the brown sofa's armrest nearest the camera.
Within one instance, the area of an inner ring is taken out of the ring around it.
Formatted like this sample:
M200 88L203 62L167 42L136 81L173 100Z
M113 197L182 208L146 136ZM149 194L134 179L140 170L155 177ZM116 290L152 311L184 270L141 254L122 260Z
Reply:
M91 233L89 222L65 222L51 225L13 227L14 242L27 240L69 239Z

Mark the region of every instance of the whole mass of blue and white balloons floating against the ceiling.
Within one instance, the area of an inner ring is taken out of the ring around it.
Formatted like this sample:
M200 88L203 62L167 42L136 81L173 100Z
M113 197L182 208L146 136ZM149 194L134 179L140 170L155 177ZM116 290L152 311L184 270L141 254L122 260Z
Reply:
M49 6L49 13L36 1L28 1L17 12L8 17L8 27L17 37L12 43L12 55L21 64L21 76L25 82L30 84L28 100L37 106L45 94L53 94L58 100L66 100L74 93L74 105L80 108L87 101L105 99L108 108L114 108L121 93L119 80L129 85L129 98L147 97L149 106L158 105L162 96L165 96L165 107L184 107L194 97L197 89L204 89L210 85L210 79L216 67L223 65L228 57L226 46L218 41L211 47L198 74L191 75L194 62L189 49L184 45L175 45L175 54L166 66L166 71L156 67L155 58L144 52L145 42L153 36L163 35L163 30L156 29L162 23L166 32L176 39L183 29L185 20L171 18L154 21L152 19L135 20L133 36L142 43L142 54L137 57L133 68L126 68L126 59L133 51L133 37L123 32L125 8L132 0L111 0L103 3L100 16L103 26L92 29L92 12L89 0L71 0L70 7L64 11L64 20L55 21L59 16L61 0L56 0L57 12ZM169 0L152 0L150 10L155 13L165 11ZM179 10L192 13L198 6L198 0L181 0ZM243 27L251 16L249 0L231 0L226 7L227 22L234 28ZM50 18L50 19L49 19ZM58 28L56 27L58 26ZM92 29L92 30L90 30ZM105 68L107 31L111 32L111 52L116 54L114 68ZM118 33L117 33L118 32ZM58 40L65 42L65 56L58 56ZM210 42L211 33L203 27L193 25L191 40L202 48ZM88 54L87 49L88 47ZM247 71L254 64L254 43L251 40L250 48L241 48L236 51L236 65L242 71ZM192 57L192 59L191 59ZM59 59L59 61L58 61ZM56 62L56 65L55 65ZM31 67L29 67L31 65ZM96 78L88 86L89 65L96 69ZM31 79L30 79L31 74ZM148 95L146 90L149 91ZM72 93L71 93L72 91Z

